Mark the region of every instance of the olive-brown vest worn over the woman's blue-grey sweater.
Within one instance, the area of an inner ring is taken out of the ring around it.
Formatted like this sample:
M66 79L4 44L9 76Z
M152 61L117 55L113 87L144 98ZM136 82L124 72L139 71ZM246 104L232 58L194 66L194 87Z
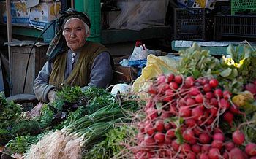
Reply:
M87 41L81 50L79 59L77 63L75 63L73 71L69 74L69 77L67 77L66 80L64 80L64 75L67 63L67 53L57 55L53 62L53 69L50 73L49 84L54 85L56 90L60 90L65 85L78 85L80 87L88 85L91 66L97 55L102 52L108 52L105 46L99 43Z

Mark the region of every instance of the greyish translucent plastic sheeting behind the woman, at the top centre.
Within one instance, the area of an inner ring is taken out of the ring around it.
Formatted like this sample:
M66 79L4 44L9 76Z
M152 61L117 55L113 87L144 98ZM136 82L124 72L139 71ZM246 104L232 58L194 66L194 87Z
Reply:
M110 28L140 31L150 26L164 26L169 0L118 0L121 8Z

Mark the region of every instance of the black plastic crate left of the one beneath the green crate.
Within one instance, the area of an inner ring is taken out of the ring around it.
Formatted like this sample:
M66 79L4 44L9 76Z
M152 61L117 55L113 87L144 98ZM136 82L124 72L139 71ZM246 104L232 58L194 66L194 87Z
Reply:
M208 41L214 38L214 15L209 9L175 10L175 39Z

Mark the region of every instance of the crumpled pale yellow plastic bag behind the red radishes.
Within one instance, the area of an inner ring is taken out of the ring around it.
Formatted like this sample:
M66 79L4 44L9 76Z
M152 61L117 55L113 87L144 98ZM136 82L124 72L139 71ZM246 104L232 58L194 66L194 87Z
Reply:
M167 56L148 55L146 67L142 70L141 76L133 83L132 91L146 90L151 85L149 80L159 74L176 73L177 63L178 61Z

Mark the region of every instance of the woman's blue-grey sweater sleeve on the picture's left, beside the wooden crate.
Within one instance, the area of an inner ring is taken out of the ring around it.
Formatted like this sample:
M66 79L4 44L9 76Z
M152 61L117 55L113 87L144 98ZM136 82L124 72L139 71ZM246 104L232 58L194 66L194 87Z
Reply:
M49 84L50 72L52 71L51 63L46 62L39 71L37 78L34 80L34 94L38 101L48 103L48 92L55 87Z

